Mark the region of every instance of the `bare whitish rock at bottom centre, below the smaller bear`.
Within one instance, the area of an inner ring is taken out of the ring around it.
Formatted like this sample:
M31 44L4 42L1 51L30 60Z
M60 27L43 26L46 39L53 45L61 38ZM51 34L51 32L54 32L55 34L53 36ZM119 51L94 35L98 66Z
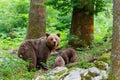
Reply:
M76 70L72 70L69 72L69 75L67 75L64 80L81 80L80 72Z

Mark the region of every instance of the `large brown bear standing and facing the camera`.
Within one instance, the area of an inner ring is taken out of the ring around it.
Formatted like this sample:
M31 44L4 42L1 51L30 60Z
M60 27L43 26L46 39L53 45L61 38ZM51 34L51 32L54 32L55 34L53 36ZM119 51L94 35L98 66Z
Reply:
M19 47L18 56L23 60L30 61L28 70L39 68L46 70L47 59L52 50L60 43L60 34L48 34L39 39L25 40Z

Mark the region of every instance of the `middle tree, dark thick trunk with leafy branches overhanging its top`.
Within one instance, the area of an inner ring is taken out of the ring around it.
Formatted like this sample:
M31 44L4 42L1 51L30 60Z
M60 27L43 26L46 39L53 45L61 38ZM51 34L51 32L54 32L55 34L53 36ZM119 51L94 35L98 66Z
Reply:
M60 10L61 15L72 12L68 43L71 47L91 45L94 31L93 16L104 10L103 0L48 0L47 4Z

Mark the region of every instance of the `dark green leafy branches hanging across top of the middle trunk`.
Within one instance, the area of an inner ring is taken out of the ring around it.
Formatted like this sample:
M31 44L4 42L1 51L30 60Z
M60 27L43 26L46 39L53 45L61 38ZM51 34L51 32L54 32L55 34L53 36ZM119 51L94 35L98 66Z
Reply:
M71 13L72 8L83 9L87 7L87 13L97 14L105 10L104 0L48 0L47 5L52 5L54 9L59 10L60 15ZM94 5L94 9L90 9ZM89 8L89 9L88 9Z

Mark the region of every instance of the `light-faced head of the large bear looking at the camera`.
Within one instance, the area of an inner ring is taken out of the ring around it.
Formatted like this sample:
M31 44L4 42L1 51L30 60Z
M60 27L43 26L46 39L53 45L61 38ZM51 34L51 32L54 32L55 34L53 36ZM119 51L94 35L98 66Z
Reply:
M60 34L49 34L46 33L47 45L51 48L51 50L55 50L60 43Z

